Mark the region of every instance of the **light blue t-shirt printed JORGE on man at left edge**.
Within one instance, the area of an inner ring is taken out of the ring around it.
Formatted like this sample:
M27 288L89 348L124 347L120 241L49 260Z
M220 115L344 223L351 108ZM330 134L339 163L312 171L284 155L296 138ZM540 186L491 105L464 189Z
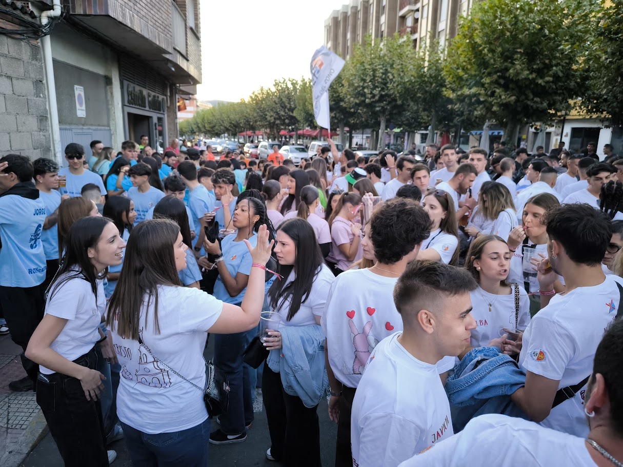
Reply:
M45 280L44 222L45 205L40 197L0 197L1 286L34 287Z

